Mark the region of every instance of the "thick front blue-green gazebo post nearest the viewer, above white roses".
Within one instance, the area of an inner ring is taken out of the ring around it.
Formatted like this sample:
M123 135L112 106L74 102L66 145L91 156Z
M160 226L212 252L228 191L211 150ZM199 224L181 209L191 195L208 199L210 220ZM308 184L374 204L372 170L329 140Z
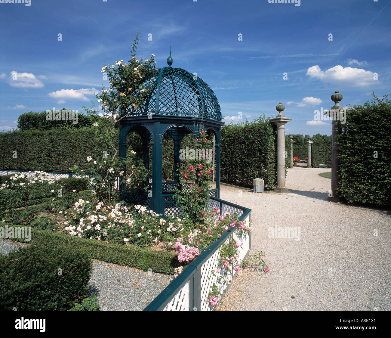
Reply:
M164 216L164 200L161 192L161 163L163 160L163 143L161 142L160 128L160 122L156 122L154 124L154 137L152 144L152 198L150 205L151 210L154 210L159 215Z

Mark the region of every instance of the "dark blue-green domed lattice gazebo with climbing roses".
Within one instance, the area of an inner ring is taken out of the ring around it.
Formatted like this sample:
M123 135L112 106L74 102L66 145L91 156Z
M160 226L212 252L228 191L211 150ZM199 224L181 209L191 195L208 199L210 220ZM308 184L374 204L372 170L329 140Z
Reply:
M126 157L127 135L137 132L142 138L143 163L149 169L149 149L152 147L152 178L147 177L148 192L131 194L125 191L122 199L128 203L142 204L160 215L179 214L172 196L173 185L180 182L176 169L180 165L181 142L185 135L193 133L198 138L201 129L215 136L215 189L210 196L220 198L220 128L219 101L213 90L196 74L182 68L172 68L171 52L168 67L145 80L152 87L151 95L137 110L127 113L120 120L120 157ZM129 110L130 111L130 110ZM174 141L174 182L162 179L163 136Z

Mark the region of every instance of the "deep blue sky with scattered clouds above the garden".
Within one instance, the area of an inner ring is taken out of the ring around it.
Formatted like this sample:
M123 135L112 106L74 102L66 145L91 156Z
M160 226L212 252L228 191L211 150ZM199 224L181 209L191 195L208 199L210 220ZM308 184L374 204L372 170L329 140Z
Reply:
M127 61L138 30L138 57L153 53L165 67L171 43L172 67L210 85L226 122L237 122L239 112L275 117L282 101L292 118L286 134L330 135L331 123L315 121L314 110L330 109L335 89L342 106L391 93L389 0L5 1L1 131L15 128L25 111L97 105L93 93L108 86L103 64Z

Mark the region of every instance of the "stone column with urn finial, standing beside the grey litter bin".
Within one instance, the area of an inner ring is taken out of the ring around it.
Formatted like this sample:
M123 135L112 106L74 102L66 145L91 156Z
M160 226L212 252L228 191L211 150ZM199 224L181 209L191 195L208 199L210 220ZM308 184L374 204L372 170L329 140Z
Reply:
M274 188L275 192L280 194L289 192L285 187L285 123L290 122L292 119L288 119L282 115L285 106L279 102L276 106L278 115L271 119L271 123L277 125L277 186Z

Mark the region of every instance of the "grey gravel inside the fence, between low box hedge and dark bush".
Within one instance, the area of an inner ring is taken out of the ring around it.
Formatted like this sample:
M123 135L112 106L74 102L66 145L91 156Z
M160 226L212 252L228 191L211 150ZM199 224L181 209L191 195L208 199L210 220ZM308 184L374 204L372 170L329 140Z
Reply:
M26 244L0 239L3 255ZM103 261L93 261L88 294L95 292L102 311L143 310L174 277Z

